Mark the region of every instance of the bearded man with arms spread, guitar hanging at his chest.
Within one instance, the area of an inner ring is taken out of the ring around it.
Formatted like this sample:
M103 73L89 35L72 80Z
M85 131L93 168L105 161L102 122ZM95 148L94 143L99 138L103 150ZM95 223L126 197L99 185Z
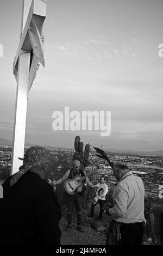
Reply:
M59 185L62 184L67 179L73 179L76 175L80 175L81 177L86 175L86 172L82 169L80 169L80 161L75 160L73 162L73 168L70 170L67 170L64 176L62 176L59 180L53 180L53 185ZM85 179L82 181L82 185L78 187L78 190L75 194L68 194L67 193L67 206L68 206L68 212L67 212L67 220L68 225L65 228L66 231L70 231L71 229L71 222L72 222L72 212L74 210L74 206L76 208L77 212L77 229L80 232L84 232L84 229L82 228L82 203L83 203L83 186L89 186L91 188L95 188L95 186L91 183L89 178L86 176Z

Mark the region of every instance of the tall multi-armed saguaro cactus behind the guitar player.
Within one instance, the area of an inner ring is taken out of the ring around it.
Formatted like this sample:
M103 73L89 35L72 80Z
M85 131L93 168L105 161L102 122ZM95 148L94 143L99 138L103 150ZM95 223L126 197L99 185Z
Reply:
M85 149L83 152L84 144L80 142L80 137L76 136L74 140L74 149L76 150L73 155L73 160L79 160L81 163L80 168L84 169L85 167L89 166L89 154L90 154L90 145L86 144Z

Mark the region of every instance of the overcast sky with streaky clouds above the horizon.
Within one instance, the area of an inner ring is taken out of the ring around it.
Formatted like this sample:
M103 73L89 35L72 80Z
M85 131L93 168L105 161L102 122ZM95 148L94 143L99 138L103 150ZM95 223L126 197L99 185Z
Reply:
M162 0L48 0L45 62L29 93L26 143L73 147L79 135L97 147L163 149ZM16 80L12 74L21 0L1 0L0 137L12 139ZM54 111L111 111L111 135L53 131Z

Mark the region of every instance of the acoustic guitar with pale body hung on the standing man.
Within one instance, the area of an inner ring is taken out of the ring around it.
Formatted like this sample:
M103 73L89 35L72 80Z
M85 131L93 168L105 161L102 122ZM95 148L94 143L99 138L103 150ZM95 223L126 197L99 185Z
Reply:
M90 173L80 176L77 174L73 179L67 179L64 181L64 188L68 194L76 194L80 191L80 187L83 186L82 181L89 176L93 171L98 170L98 167L95 167Z

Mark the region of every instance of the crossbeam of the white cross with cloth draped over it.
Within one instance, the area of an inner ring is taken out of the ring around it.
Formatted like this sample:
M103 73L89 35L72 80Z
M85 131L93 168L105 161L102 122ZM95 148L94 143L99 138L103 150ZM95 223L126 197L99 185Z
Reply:
M33 56L31 55L31 60L30 60L28 92L32 87L32 83L35 78L37 63L40 62L43 66L45 66L42 41L41 41L41 33L42 33L43 22L45 21L45 18L46 18L46 12L47 12L46 0L32 1L29 8L26 24L24 25L23 32L21 34L20 42L16 52L16 57L13 63L13 73L17 81L18 62L19 62L20 54L23 52L31 52L33 50Z

